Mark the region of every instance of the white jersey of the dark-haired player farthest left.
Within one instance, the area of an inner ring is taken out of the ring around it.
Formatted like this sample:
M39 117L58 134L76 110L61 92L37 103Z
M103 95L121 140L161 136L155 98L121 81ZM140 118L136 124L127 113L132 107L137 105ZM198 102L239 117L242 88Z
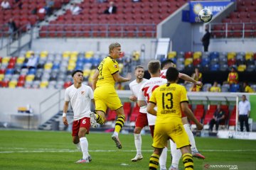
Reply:
M70 101L74 112L74 120L90 118L90 103L93 99L93 91L90 86L82 84L76 89L74 84L65 90L65 101Z

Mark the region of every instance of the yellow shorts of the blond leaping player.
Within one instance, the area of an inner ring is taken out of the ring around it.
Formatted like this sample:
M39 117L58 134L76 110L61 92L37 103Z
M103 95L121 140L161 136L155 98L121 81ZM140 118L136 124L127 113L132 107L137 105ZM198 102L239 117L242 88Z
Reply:
M122 107L122 102L117 95L117 91L110 86L100 86L94 91L95 110L106 113L107 108L112 111Z

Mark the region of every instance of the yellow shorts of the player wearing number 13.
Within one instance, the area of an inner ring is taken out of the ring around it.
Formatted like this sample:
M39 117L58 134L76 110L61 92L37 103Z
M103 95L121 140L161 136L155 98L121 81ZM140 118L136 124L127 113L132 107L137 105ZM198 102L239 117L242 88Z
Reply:
M180 118L174 118L172 123L156 123L152 147L164 148L170 138L176 143L177 149L190 145Z

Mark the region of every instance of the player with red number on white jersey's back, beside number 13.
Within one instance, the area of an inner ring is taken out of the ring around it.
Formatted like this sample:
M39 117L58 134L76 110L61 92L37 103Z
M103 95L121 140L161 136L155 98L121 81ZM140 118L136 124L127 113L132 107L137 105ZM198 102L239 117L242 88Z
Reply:
M144 84L142 84L142 87L139 90L138 105L140 107L146 106L154 89L167 83L166 79L162 79L160 77L160 62L158 60L150 61L148 64L148 70L149 70L149 74L151 75L151 78L148 81L146 81ZM151 135L152 137L154 137L154 125L156 122L156 116L147 113L147 118L149 122ZM166 170L166 158L167 158L167 147L163 149L163 152L161 153L161 156L159 158L159 164L160 164L161 170Z

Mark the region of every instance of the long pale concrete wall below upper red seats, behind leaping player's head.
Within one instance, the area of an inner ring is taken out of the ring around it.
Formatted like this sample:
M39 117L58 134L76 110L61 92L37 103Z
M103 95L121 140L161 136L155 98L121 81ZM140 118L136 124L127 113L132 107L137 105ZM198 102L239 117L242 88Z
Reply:
M131 53L134 50L141 51L142 46L145 49L145 55L142 58L154 57L156 50L155 38L40 38L33 40L32 50L38 52L47 50L49 52L64 51L100 51L108 54L108 46L112 42L119 42L122 45L122 51Z

